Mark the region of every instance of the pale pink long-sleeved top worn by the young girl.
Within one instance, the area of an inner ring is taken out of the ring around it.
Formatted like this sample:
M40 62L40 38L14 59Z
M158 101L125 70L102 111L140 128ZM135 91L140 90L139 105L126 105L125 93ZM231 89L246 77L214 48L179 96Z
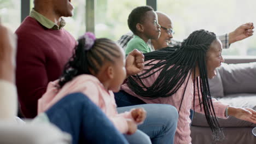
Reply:
M121 133L127 133L128 125L126 119L131 119L132 122L135 122L131 112L118 114L113 92L106 91L95 76L79 75L72 81L67 82L61 89L56 87L57 83L58 80L48 84L46 93L38 100L38 113L46 111L67 94L82 92L101 108Z

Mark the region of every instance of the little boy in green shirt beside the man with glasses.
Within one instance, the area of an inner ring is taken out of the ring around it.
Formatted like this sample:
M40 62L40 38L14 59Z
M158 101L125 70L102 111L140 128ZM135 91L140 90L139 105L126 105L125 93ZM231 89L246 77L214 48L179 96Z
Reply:
M158 15L156 15L153 8L142 6L133 9L128 17L128 26L135 37L127 44L126 55L134 49L143 53L152 51L147 45L148 40L157 40L160 36Z

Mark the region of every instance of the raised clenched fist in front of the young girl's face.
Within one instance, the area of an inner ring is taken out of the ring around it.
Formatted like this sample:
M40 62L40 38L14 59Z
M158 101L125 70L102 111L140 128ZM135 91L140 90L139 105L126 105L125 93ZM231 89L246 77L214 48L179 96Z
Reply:
M126 57L126 74L136 75L144 69L144 55L137 49L130 52Z

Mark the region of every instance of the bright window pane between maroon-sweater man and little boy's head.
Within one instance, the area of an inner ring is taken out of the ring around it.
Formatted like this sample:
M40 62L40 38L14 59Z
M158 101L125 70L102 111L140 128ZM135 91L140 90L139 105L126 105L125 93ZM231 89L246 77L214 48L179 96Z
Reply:
M97 38L106 37L118 40L129 32L127 19L132 9L146 5L146 0L96 0L95 34Z

